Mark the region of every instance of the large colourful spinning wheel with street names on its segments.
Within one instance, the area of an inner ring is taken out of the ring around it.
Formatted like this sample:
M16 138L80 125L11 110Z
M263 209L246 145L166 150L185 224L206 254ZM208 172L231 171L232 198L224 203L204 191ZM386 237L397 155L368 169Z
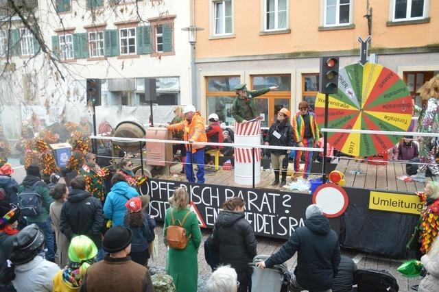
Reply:
M316 97L316 119L324 127L324 94ZM412 97L403 80L379 64L353 64L339 71L338 92L329 95L328 127L407 131ZM328 132L328 142L344 154L370 156L393 147L401 136Z

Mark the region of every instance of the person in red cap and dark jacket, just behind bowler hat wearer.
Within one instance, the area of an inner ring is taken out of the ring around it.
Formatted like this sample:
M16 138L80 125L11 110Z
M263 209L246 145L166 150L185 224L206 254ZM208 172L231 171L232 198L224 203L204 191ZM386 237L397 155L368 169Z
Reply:
M134 263L147 266L151 253L148 243L154 241L156 221L147 212L143 212L141 197L133 197L126 202L125 206L128 212L126 212L123 226L132 231L130 257Z

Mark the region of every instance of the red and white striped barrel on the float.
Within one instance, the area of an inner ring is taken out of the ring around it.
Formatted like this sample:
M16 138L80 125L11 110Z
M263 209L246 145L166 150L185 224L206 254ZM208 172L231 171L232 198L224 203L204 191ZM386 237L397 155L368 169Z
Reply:
M235 123L235 143L249 147L235 147L235 183L253 183L252 146L261 145L261 121ZM254 148L254 184L261 182L261 149Z

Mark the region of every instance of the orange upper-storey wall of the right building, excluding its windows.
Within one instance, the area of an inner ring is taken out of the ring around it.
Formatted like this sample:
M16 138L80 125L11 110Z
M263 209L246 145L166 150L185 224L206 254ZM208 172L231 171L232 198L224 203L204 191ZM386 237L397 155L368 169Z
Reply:
M195 0L195 25L198 32L196 58L252 56L307 51L358 49L357 38L368 36L366 0L353 1L354 29L318 31L320 0L289 1L289 34L259 35L262 30L261 0L233 0L232 38L211 38L210 0ZM387 26L391 1L370 0L372 16L371 48L405 48L439 45L439 0L429 1L429 23ZM426 1L428 2L428 1Z

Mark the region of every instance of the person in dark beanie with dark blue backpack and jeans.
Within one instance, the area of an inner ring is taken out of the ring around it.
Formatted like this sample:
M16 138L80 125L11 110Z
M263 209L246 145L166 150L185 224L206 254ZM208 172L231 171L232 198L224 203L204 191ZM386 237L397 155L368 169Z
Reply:
M49 217L50 204L54 199L47 184L40 178L38 165L29 165L19 188L19 207L27 224L36 223L45 236L46 259L55 262L55 243Z

